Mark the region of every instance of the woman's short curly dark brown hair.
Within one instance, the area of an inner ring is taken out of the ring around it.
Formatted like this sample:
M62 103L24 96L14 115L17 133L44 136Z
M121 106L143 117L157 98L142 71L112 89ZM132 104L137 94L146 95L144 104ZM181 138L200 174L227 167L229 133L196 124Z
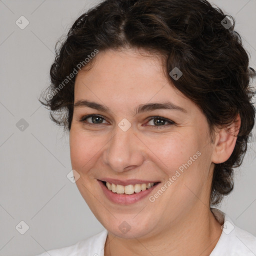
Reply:
M255 121L254 70L234 23L206 0L105 0L78 17L56 44L51 84L39 101L55 123L70 130L75 75L81 64L86 67L86 59L96 51L124 47L161 54L167 73L174 67L182 71L179 79L169 79L203 111L210 131L240 115L231 156L214 166L210 203L218 204L233 189L233 168L242 162Z

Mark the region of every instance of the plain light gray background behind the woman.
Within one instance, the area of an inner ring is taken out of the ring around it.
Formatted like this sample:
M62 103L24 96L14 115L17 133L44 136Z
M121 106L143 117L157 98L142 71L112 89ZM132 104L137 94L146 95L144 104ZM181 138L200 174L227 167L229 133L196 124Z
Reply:
M68 133L50 121L37 100L49 85L56 41L97 2L0 0L0 255L35 255L103 229L66 177L71 170ZM233 15L256 69L256 0L210 2ZM20 16L29 21L24 29L15 23ZM27 127L20 126L22 118ZM254 139L235 171L233 192L218 207L254 235L255 157ZM29 226L24 234L15 228L21 220Z

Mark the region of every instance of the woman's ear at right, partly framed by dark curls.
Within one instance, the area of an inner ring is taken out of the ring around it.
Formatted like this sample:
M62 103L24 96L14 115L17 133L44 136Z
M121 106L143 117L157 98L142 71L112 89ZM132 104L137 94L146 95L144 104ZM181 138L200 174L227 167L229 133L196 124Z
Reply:
M240 115L237 114L235 120L225 128L218 130L215 137L214 149L211 156L211 161L221 163L226 161L233 152L237 134L241 125Z

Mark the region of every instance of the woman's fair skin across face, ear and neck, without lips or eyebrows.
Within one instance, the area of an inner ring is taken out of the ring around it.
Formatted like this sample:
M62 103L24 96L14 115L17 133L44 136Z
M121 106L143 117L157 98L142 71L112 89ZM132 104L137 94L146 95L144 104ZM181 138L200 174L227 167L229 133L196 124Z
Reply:
M70 157L82 197L108 230L104 255L209 255L222 231L209 209L213 167L231 155L239 116L211 140L205 115L173 87L159 55L146 50L99 51L87 65L76 76L74 103L85 99L109 111L74 108ZM165 101L184 110L134 112L141 104ZM88 114L101 118L79 121ZM123 118L131 124L127 131L118 126ZM156 189L130 205L113 203L97 181L159 180L160 188L197 151L201 155L154 202L149 196ZM126 233L118 228L123 221L130 226Z

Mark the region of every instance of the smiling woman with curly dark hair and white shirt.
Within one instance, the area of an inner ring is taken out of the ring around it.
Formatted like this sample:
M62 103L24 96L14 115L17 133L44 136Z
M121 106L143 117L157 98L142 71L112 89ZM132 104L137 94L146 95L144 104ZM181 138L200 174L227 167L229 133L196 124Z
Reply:
M74 22L41 102L69 131L74 180L105 229L41 256L256 254L211 207L255 119L233 27L206 0L105 0Z

